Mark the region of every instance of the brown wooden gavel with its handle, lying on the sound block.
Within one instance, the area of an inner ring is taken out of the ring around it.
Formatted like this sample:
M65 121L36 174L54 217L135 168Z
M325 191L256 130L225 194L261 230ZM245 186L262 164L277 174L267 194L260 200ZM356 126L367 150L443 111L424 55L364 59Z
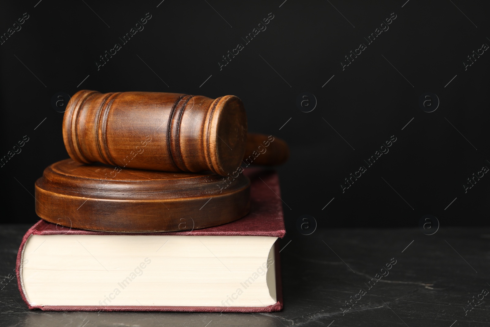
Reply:
M247 134L235 96L81 90L67 104L63 141L81 163L221 176L242 162L278 165L289 156L283 140Z

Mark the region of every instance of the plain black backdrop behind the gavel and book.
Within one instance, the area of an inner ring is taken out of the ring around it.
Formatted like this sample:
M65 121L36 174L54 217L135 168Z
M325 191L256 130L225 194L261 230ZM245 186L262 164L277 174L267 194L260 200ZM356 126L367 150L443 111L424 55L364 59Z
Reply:
M297 232L304 214L319 227L418 226L425 214L441 226L488 225L490 177L467 193L463 187L490 167L490 54L464 66L472 51L490 44L488 2L404 2L3 3L0 33L24 13L29 18L0 46L0 156L25 135L29 141L0 168L2 220L39 219L34 182L68 157L63 113L51 99L91 89L240 97L249 131L291 147L278 168L288 232ZM99 56L122 44L119 37L147 13L144 30L98 70ZM242 37L269 13L267 29L245 45ZM392 13L389 29L343 70L344 56L367 44ZM220 70L222 56L239 43L245 48ZM318 101L308 113L296 106L303 92ZM426 92L440 100L431 113L418 104ZM392 135L390 151L343 193L344 178Z

